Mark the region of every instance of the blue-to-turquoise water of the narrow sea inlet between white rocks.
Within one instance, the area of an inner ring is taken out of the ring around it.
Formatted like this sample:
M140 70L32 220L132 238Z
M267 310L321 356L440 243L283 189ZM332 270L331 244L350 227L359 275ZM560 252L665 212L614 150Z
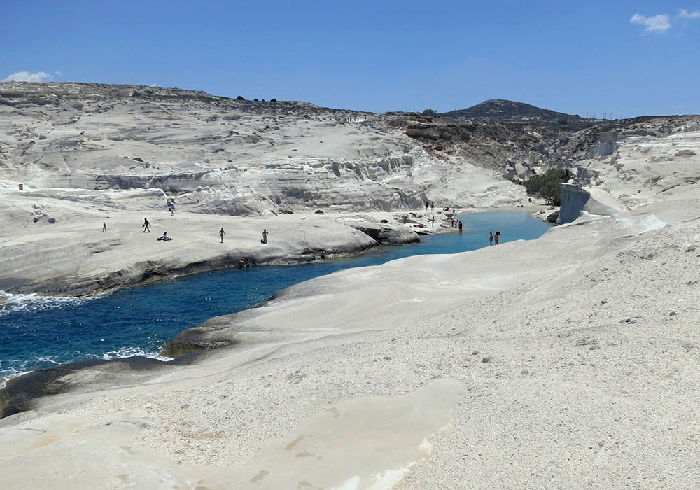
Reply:
M353 258L223 269L89 299L24 298L0 310L0 381L73 360L157 356L181 330L254 307L307 279L409 255L475 250L489 246L489 231L500 231L505 243L535 239L549 228L522 211L468 214L462 221L461 235L423 236L420 244L382 246Z

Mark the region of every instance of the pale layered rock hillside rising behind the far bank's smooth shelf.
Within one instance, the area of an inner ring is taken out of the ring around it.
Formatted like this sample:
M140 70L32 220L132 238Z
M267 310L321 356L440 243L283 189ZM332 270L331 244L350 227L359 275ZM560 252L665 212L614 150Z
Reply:
M426 151L402 115L160 87L3 83L0 116L0 167L12 186L155 188L194 211L253 215L523 196L478 159Z

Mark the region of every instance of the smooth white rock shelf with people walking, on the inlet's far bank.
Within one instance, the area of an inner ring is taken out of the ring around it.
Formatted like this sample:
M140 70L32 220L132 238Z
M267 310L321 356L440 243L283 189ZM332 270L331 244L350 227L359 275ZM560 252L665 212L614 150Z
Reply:
M117 232L117 237L87 231L90 239L85 238L82 230L76 235L74 230L50 225L52 235L60 235L41 241L48 240L52 244L72 241L75 246L65 248L53 245L54 248L50 248L52 245L47 245L48 251L36 251L48 255L44 267L40 269L29 265L36 260L34 250L25 249L21 237L13 237L7 247L8 253L22 253L13 258L13 267L19 267L18 270L22 272L13 273L10 262L7 262L6 272L0 277L0 290L13 295L85 297L153 283L175 275L236 267L241 259L258 264L297 263L308 260L307 255L319 255L323 251L326 255L341 257L361 253L377 245L377 241L363 232L313 215L251 218L183 213L174 216L168 223L165 223L166 220L160 218L153 223L155 220L151 219L154 228L151 235L141 234L139 228L134 232L132 225L127 229L123 221L112 221L108 233ZM203 229L208 223L212 223L210 227L214 230L218 230L215 226L222 224L229 233L236 230L237 237L225 239L223 244L219 243L218 237L209 243L203 242L202 235L211 233L211 228ZM278 228L277 236L274 239L271 237L269 244L263 246L252 237L257 235L255 228L262 230L265 226L281 226L283 229ZM162 230L168 230L174 241L167 244L157 242L155 237ZM299 230L301 237L297 237ZM144 242L145 239L148 241ZM13 247L13 242L18 245ZM35 242L36 239L29 243ZM95 261L93 257L99 260ZM20 265L16 262L20 262ZM22 274L21 279L19 274Z

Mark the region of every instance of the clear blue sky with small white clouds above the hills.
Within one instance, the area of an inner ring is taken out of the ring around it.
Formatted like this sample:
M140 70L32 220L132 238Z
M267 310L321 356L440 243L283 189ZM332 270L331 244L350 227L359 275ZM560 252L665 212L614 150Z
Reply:
M511 99L582 116L700 113L700 0L3 0L1 10L0 80L375 112Z

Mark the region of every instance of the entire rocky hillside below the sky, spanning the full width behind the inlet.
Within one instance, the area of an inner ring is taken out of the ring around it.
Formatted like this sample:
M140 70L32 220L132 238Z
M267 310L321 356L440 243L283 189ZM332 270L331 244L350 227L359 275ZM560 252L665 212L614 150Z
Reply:
M635 206L697 180L698 141L698 116L594 120L491 100L433 117L136 85L0 84L0 185L159 189L208 214L516 204L524 189L511 182L552 167ZM665 162L682 168L661 181L654 167Z

